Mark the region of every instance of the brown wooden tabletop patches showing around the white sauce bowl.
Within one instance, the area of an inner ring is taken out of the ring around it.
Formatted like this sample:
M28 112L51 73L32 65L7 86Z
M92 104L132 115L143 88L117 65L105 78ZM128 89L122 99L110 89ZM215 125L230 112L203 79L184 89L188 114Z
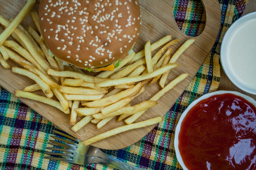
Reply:
M249 14L250 12L255 12L256 11L256 1L255 0L250 0L249 3L247 3L245 7L245 11L243 12L243 15ZM229 91L238 91L241 92L242 94L245 94L247 96L253 97L253 99L256 100L256 95L249 94L240 88L238 88L236 85L234 85L226 76L225 72L222 70L221 71L221 81L220 81L220 87L218 90L229 90Z

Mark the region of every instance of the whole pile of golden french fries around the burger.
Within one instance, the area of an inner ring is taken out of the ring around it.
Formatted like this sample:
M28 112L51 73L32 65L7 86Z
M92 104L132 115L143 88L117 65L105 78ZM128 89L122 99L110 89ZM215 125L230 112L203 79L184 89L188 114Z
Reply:
M170 46L179 42L179 39L172 40L172 36L167 35L152 44L147 41L140 52L130 50L128 56L113 71L101 71L92 76L77 67L65 66L62 61L52 56L40 31L38 12L31 10L34 3L35 0L28 0L14 19L7 20L0 15L0 24L4 28L0 34L1 65L35 82L23 90L16 90L16 97L40 101L70 114L73 131L80 130L90 122L100 129L117 116L118 122L124 121L127 124L87 139L83 142L84 145L162 121L161 117L155 117L134 123L147 109L158 104L160 97L188 76L181 74L166 85L170 70L178 66L175 63L177 58L195 39L185 41L172 57ZM20 25L28 13L31 14L36 28L29 26L25 29ZM9 36L16 41L7 40ZM158 52L151 56L158 48ZM21 67L11 67L8 59ZM158 80L162 90L150 100L130 104L135 97L143 94L147 83L152 84ZM44 95L38 95L36 91L42 91Z

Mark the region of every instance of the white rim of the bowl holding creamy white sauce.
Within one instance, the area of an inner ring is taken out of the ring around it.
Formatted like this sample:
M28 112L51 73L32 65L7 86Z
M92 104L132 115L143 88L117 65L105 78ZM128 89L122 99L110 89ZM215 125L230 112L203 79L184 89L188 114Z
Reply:
M225 72L225 74L228 76L228 78L232 81L232 83L234 83L238 88L240 88L241 90L248 92L249 94L253 94L256 95L256 84L255 87L246 87L245 84L243 84L241 81L239 81L236 78L236 75L232 72L232 69L230 69L229 65L228 65L228 58L225 56L225 53L227 51L227 46L229 43L229 38L233 36L233 33L239 29L243 23L248 22L250 20L255 20L256 18L256 11L255 12L251 12L249 14L246 14L244 16L242 16L241 18L239 18L238 20L236 20L229 28L228 31L226 31L223 40L221 42L221 49L220 49L220 61L221 61L221 65L222 68Z

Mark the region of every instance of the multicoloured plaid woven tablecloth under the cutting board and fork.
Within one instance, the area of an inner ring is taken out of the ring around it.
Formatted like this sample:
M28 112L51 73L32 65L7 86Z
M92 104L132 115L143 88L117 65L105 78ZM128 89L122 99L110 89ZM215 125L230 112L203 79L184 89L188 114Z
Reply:
M170 1L174 1L174 15L180 29L189 36L199 35L205 24L202 3L199 0ZM195 78L164 117L164 121L134 145L122 150L104 150L104 152L141 168L181 169L174 150L174 131L177 121L193 100L217 90L221 79L222 38L229 26L240 18L248 2L249 0L219 0L222 18L216 43ZM1 88L1 169L112 169L101 164L80 166L44 159L44 151L50 135L54 134L53 130L55 126L51 122Z

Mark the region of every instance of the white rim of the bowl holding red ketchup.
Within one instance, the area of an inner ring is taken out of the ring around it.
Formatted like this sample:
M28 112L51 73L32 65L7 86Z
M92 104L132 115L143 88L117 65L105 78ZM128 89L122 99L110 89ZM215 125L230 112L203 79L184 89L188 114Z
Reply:
M208 97L213 96L213 95L221 95L221 94L234 94L234 95L243 97L243 99L249 101L251 104L255 105L255 107L256 107L256 101L253 98L251 98L250 96L243 95L240 92L236 92L236 91L224 91L224 90L205 94L205 95L199 97L199 99L196 99L191 104L189 104L187 109L185 109L185 111L180 116L179 122L177 123L176 129L175 129L175 137L174 137L174 148L175 148L176 158L184 170L188 169L188 168L185 166L185 164L181 158L180 151L179 151L179 133L180 133L181 122L184 120L184 117L187 115L188 111L191 108L193 108L197 103L199 103L199 101L207 99Z

